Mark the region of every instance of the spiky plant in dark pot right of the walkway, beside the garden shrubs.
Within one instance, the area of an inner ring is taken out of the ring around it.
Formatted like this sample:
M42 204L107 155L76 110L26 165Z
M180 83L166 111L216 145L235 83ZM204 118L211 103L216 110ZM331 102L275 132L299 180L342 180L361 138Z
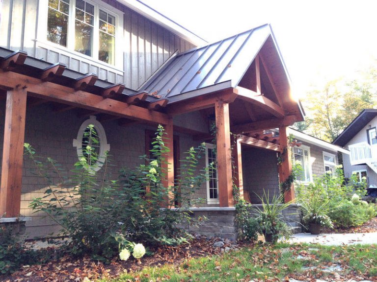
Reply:
M311 234L320 234L321 227L332 228L333 224L327 215L330 212L329 200L321 195L311 195L301 200L302 221Z

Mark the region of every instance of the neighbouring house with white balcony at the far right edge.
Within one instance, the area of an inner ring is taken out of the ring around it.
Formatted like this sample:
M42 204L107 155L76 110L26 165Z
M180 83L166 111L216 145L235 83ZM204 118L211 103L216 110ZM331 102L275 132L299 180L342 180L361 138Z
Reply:
M377 110L363 110L333 144L350 150L343 154L345 177L366 177L368 187L377 188Z

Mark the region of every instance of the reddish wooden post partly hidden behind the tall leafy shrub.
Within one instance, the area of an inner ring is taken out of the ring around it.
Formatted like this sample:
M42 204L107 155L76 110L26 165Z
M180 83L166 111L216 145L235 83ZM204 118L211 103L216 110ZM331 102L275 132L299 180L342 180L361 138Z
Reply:
M166 199L166 207L174 207L174 142L173 142L173 119L170 118L169 122L164 125L165 133L163 136L165 138L164 144L169 148L163 157L164 161L162 162L162 171L165 173L165 178L162 180L164 187L169 189L169 196Z

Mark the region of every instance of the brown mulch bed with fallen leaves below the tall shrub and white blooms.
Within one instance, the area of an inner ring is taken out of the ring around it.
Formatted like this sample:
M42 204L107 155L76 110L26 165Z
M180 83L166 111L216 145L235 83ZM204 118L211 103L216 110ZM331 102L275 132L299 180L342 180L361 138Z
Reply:
M9 276L0 276L0 282L80 282L100 278L116 278L124 272L135 272L146 266L164 263L178 264L187 258L220 254L221 248L214 247L214 242L217 240L219 239L198 237L190 244L152 249L154 255L150 257L129 258L127 261L114 258L109 264L92 260L89 257L72 258L66 255L45 264L26 266ZM225 240L224 243L222 249L232 246L228 240Z

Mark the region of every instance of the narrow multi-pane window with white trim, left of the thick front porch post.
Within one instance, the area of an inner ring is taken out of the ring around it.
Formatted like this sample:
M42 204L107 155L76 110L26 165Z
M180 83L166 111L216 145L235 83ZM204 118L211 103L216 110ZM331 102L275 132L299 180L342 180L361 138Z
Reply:
M218 178L216 168L216 148L214 144L206 143L206 166L209 167L207 179L207 204L218 204Z

